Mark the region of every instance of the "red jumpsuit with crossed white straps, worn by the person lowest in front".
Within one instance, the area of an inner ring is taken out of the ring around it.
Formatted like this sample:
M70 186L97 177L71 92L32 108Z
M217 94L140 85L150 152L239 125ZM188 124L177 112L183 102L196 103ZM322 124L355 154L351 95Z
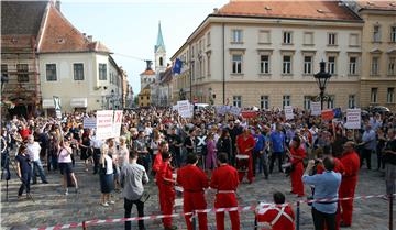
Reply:
M280 207L278 207L278 209L280 209ZM286 215L292 217L293 221L290 221L286 216L282 215L280 218L276 222L271 224L272 230L294 230L295 229L295 223L294 223L295 213L293 211L292 206L286 206L284 211ZM272 221L274 221L274 219L278 216L278 213L279 213L279 210L276 210L276 209L268 209L267 211L265 211L262 215L258 213L257 215L257 223L258 224L260 224L260 222L272 223ZM270 229L262 228L261 230L270 230Z

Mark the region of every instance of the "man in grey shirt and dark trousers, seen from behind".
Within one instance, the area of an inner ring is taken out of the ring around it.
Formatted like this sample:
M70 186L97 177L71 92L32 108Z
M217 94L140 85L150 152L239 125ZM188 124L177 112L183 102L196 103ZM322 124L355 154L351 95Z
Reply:
M148 176L142 165L138 164L138 153L131 151L129 154L130 164L123 164L120 183L123 188L125 218L131 217L132 206L138 208L138 216L144 217L144 201L142 196L144 193L143 184L148 183ZM125 221L125 230L131 230L131 221ZM139 220L139 230L145 230L144 220Z

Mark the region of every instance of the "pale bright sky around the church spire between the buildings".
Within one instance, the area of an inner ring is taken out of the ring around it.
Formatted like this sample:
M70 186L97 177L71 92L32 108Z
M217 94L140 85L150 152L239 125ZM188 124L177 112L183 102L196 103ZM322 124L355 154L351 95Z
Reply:
M133 91L140 91L140 74L145 62L154 61L158 22L166 46L167 62L195 29L228 0L64 0L62 13L81 33L92 35L113 54L128 74ZM129 57L132 56L132 57ZM136 57L136 58L133 58Z

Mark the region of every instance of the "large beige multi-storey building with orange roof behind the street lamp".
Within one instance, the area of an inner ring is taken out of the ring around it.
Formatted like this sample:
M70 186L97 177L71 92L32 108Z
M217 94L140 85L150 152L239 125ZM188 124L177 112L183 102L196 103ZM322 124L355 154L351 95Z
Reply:
M172 57L184 63L174 80L175 101L183 90L199 102L309 109L319 95L314 74L324 61L332 74L324 108L362 107L363 26L338 2L231 1Z

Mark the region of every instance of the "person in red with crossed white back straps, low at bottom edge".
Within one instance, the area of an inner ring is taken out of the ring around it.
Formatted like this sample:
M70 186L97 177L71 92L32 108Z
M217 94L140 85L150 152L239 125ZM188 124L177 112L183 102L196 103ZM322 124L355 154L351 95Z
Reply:
M279 191L274 194L276 206L263 207L258 209L256 221L261 230L294 230L295 213L290 205L285 204L285 195ZM279 218L277 216L280 213Z

